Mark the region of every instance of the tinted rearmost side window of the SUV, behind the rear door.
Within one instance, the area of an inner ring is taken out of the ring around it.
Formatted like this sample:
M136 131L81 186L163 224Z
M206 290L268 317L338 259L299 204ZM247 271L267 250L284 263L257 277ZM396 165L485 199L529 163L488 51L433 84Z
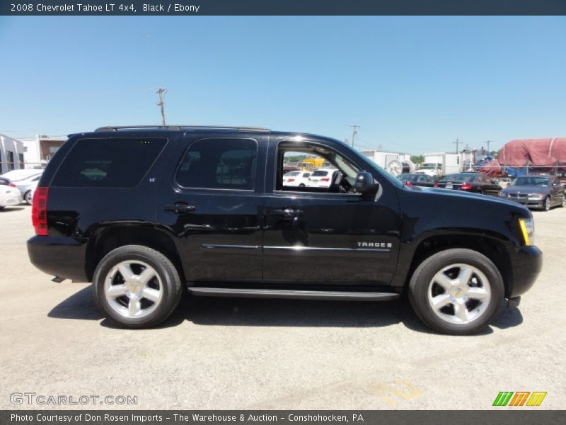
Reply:
M67 154L52 186L133 188L161 154L167 139L81 139Z

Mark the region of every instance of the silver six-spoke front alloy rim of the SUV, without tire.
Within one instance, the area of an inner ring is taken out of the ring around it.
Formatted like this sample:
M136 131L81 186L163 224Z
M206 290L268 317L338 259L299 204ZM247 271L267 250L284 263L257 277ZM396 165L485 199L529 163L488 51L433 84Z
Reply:
M470 264L446 266L429 283L429 305L434 314L446 322L473 322L485 313L490 300L489 280Z

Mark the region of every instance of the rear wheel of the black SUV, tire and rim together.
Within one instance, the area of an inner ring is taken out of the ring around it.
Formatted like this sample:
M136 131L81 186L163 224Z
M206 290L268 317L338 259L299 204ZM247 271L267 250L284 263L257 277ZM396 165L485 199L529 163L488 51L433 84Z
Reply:
M96 304L105 317L127 328L156 326L177 307L182 285L173 263L146 246L110 251L93 277Z

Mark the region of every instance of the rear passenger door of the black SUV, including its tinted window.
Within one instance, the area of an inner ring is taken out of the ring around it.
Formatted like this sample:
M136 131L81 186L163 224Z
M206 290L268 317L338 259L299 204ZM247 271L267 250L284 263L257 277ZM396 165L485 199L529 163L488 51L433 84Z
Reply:
M262 281L266 139L187 133L175 148L157 220L174 235L186 280Z

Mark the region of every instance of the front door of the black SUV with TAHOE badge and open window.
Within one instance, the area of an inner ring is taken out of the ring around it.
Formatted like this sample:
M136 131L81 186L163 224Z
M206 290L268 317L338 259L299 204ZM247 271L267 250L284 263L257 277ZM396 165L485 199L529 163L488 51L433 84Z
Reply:
M347 157L347 150L339 149L308 140L270 142L267 169L277 171L273 180L266 181L266 285L391 282L399 249L397 198L394 191L383 188L377 201L353 193L360 167ZM321 168L334 170L329 174L329 187L283 186L283 170L305 159L323 162Z

